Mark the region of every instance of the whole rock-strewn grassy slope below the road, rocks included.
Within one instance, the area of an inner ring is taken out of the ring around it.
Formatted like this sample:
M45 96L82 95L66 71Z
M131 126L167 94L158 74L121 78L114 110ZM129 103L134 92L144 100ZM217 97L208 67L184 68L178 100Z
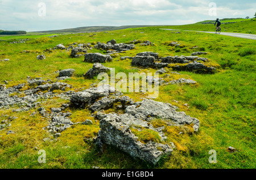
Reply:
M160 28L1 41L0 168L254 168L255 41Z

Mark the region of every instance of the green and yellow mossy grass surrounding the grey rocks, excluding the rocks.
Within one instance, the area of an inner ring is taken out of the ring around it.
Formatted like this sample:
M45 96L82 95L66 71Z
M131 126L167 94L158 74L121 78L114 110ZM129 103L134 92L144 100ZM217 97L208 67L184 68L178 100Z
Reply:
M243 24L248 23L248 24ZM253 30L255 21L242 22L241 32ZM181 25L166 28L194 29L210 31L212 24ZM204 28L203 28L204 27ZM240 31L233 24L227 24L229 32ZM163 27L160 27L163 28ZM202 29L203 28L203 29ZM228 32L227 30L227 32ZM232 30L232 31L231 31ZM255 30L254 30L255 31ZM143 32L143 33L142 33ZM13 109L0 109L0 122L4 115L19 117L11 122L11 126L0 130L0 168L255 168L255 87L256 87L256 44L255 40L218 36L208 33L181 32L171 33L157 27L130 28L109 33L98 32L81 33L76 35L61 35L55 38L40 37L22 44L10 44L9 41L0 42L0 59L9 58L8 62L0 62L0 83L9 81L7 87L20 83L27 83L26 77L41 77L57 80L55 71L65 68L75 68L75 76L63 82L72 84L76 88L89 88L90 84L98 82L96 79L85 80L82 77L92 63L82 62L83 58L71 58L70 52L55 50L44 53L46 59L39 61L36 56L43 50L53 48L63 43L65 46L73 42L96 44L97 41L107 42L113 38L118 42L132 40L149 40L155 45L140 46L120 56L134 56L139 52L158 52L162 57L167 55L190 55L196 51L209 52L204 55L210 61L208 65L218 67L217 73L212 75L194 74L181 71L181 75L171 75L172 79L191 78L197 85L164 85L159 89L156 101L169 102L176 105L186 114L200 120L200 131L196 134L182 136L168 136L174 142L176 149L171 156L164 157L156 165L149 165L141 160L134 160L117 148L105 146L104 153L98 151L92 142L84 142L83 138L97 136L99 123L90 126L74 125L61 133L55 142L44 142L43 138L51 137L43 130L48 125L46 119L39 114L31 117L30 112L13 112ZM125 36L124 36L125 35ZM49 35L48 35L49 36ZM181 47L168 46L168 42L177 41ZM30 50L31 53L20 53ZM101 52L90 50L89 52ZM114 57L113 62L104 63L106 67L115 67L117 72L133 72L131 60L119 61ZM169 68L170 70L171 67ZM148 68L141 72L155 72ZM164 76L164 75L161 75ZM58 92L56 92L58 93ZM126 93L127 96L141 101L142 93ZM175 101L174 101L175 100ZM50 109L68 102L61 98L44 101L43 107ZM184 106L184 104L188 104ZM86 109L69 109L72 112L72 122L82 122L92 119ZM7 130L16 134L6 135ZM237 152L231 153L228 147L234 147ZM46 164L38 163L38 150L47 152ZM217 152L217 163L210 164L210 149Z

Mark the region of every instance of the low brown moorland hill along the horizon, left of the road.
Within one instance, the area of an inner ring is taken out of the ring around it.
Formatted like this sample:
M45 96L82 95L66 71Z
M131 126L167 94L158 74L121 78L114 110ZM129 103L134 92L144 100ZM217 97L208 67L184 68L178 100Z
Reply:
M36 31L38 33L76 33L76 32L95 32L95 31L112 31L127 28L141 28L141 27L153 27L159 25L123 25L123 26L90 26L90 27L79 27L70 29L60 29L51 31Z

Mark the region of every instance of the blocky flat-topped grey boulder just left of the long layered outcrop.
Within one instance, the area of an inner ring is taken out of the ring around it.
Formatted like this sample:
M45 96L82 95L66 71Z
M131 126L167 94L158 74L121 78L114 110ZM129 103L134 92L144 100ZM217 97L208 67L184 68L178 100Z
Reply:
M112 57L110 55L104 55L101 53L87 53L84 55L84 62L92 62L92 63L104 63L112 61Z

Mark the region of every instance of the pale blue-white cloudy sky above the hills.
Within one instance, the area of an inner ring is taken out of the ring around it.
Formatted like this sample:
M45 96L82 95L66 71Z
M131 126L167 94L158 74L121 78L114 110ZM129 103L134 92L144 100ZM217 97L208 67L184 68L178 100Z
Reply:
M0 29L31 32L94 25L180 25L253 18L255 12L255 0L0 0Z

